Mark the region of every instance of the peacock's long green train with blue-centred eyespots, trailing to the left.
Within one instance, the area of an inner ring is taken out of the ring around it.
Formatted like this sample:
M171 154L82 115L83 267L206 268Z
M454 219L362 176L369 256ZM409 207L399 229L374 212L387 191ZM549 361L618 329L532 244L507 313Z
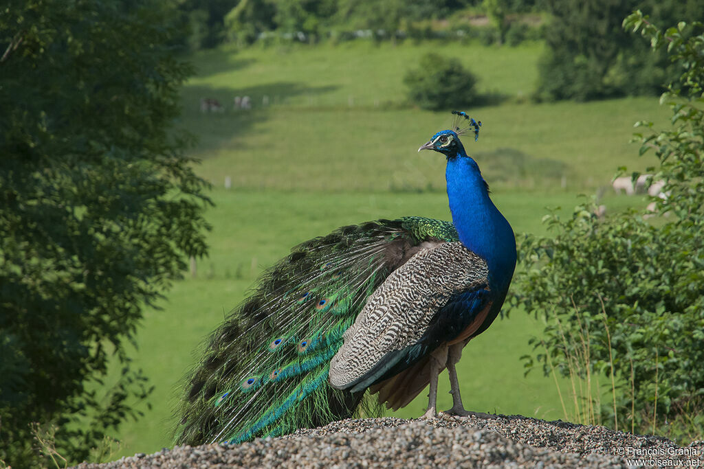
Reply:
M355 415L365 389L329 383L345 333L424 243L456 241L448 221L406 217L344 226L296 246L210 336L182 399L177 444L237 443Z

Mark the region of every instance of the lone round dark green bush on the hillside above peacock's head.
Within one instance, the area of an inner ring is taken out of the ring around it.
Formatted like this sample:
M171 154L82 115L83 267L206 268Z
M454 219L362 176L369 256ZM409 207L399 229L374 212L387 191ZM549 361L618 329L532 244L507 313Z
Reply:
M460 60L427 53L419 67L408 70L403 83L408 86L408 99L423 109L463 108L477 99L474 85L477 77L466 70Z

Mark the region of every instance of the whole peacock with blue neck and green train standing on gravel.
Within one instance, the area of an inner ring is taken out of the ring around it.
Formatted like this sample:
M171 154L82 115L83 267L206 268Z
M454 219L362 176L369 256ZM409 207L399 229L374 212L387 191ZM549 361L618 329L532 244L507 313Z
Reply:
M343 226L272 266L210 336L188 378L176 444L244 442L406 406L455 364L496 319L516 263L515 236L460 136L477 122L453 111L451 129L421 146L445 155L452 222L424 217ZM373 410L372 409L372 410Z

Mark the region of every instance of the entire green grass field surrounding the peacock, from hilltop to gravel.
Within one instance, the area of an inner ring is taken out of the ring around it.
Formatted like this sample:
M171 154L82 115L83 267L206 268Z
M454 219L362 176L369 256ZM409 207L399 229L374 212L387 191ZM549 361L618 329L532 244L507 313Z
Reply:
M450 115L413 108L401 86L407 68L431 50L461 58L480 77L480 89L505 96L496 105L468 110L484 127L477 143L465 143L486 169L494 200L517 233L543 233L546 207L571 210L577 193L608 187L617 166L642 169L653 163L638 158L629 140L636 120L665 122L667 110L656 98L524 100L536 80L537 44L353 43L199 53L194 57L199 75L184 89L180 126L199 136L191 150L202 160L196 171L215 186L216 206L207 214L213 224L210 257L199 260L196 278L175 283L163 310L145 311L134 364L156 387L152 409L142 405L144 418L125 423L115 435L122 449L113 458L170 446L170 409L179 380L196 360L195 349L243 299L261 269L291 246L370 219L410 214L449 219L444 161L416 150L449 124ZM232 97L244 95L255 108L232 112ZM270 105L262 108L265 95ZM203 96L229 109L203 115L198 110ZM517 179L489 178L501 176L499 163L506 164L498 161L501 148L526 155ZM551 165L565 176L565 188L561 177L546 178L538 170ZM230 191L222 188L225 176L232 179ZM605 194L602 203L610 211L643 203ZM542 328L532 316L514 311L467 346L459 373L468 408L565 417L553 378L535 372L524 378L520 356L530 352L527 341ZM441 407L450 406L447 390L443 376ZM426 404L422 393L396 415L420 416Z

